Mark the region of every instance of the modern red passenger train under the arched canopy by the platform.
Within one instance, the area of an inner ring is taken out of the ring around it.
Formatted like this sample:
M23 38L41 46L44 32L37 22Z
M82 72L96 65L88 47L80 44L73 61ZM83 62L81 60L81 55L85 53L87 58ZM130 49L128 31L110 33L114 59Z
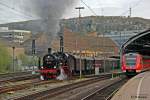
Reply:
M136 75L150 69L150 56L127 53L122 56L122 71L127 76Z

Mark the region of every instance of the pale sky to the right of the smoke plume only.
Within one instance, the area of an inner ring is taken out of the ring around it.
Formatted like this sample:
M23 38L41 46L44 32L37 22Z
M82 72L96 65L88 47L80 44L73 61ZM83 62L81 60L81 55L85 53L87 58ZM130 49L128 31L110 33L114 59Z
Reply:
M150 19L150 0L83 0L96 15L103 16L128 16L129 8L132 8L132 17L143 17ZM76 6L85 7L81 11L82 16L90 16L93 14L81 1ZM72 9L66 18L77 17L78 11Z

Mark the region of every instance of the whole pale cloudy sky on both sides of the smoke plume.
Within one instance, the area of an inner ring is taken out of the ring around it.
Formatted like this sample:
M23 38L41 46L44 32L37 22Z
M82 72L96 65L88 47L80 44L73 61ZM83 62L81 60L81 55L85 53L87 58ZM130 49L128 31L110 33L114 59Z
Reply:
M31 11L25 11L23 0L0 0L0 23L38 19ZM44 1L44 0L43 0ZM67 9L62 18L78 17L75 7L83 6L81 16L128 16L129 8L132 8L132 17L150 19L150 0L83 0L94 12L93 14L84 4L79 1Z

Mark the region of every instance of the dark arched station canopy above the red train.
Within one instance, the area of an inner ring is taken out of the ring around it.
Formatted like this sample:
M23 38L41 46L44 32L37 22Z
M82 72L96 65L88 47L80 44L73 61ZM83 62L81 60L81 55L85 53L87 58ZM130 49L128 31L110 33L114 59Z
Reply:
M131 37L122 45L122 53L139 53L150 56L150 29Z

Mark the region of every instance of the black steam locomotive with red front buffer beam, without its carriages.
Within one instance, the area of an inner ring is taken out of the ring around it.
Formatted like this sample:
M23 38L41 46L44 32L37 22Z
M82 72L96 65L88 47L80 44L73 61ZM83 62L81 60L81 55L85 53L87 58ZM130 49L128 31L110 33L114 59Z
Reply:
M49 48L48 54L43 57L43 66L40 66L40 78L45 79L55 79L61 74L61 69L65 71L65 74L69 73L68 66L68 55L62 52L56 52L51 54L51 49Z

